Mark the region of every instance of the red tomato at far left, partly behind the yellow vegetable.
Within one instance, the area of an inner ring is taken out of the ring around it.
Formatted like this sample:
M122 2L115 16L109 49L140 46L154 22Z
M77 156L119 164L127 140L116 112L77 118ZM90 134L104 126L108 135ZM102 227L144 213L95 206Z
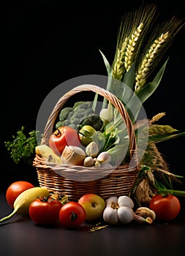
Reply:
M13 208L13 203L15 199L18 197L18 195L20 195L20 193L22 193L26 189L31 189L32 187L34 187L34 185L28 181L13 182L7 188L7 192L6 192L7 203L9 203L10 206Z

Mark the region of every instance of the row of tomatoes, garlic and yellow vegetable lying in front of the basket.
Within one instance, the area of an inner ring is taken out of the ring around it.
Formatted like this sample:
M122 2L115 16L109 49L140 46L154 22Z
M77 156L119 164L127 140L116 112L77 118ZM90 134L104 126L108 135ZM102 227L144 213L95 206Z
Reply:
M18 193L18 191L22 191ZM13 208L11 214L0 219L6 222L15 214L29 216L37 225L61 225L63 228L76 229L83 224L91 225L89 232L102 228L136 223L151 225L154 221L173 221L181 209L177 197L155 195L148 207L137 207L127 195L110 196L104 200L97 194L85 194L78 201L49 192L46 187L34 187L27 181L15 181L7 188L7 203Z

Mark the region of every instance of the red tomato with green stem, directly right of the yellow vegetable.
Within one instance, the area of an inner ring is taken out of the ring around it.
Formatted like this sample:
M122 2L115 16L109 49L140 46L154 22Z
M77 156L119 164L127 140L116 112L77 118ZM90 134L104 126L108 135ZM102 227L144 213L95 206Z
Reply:
M29 216L36 224L52 225L58 221L61 206L59 200L48 200L39 197L30 204Z

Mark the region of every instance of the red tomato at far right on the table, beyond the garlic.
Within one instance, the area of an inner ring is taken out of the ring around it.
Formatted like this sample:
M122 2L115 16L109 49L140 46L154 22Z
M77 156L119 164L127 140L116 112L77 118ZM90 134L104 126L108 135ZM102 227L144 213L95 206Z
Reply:
M169 221L178 216L181 204L175 195L154 195L152 197L149 208L156 214L156 219Z

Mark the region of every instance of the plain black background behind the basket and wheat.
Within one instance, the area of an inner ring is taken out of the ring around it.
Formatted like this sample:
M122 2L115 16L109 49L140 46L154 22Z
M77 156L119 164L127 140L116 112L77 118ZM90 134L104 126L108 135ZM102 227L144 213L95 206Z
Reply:
M4 147L18 129L35 129L37 113L48 93L80 75L107 75L99 49L112 63L121 17L142 1L19 1L6 4L1 31L1 179L37 184L36 170L15 165ZM143 1L158 5L162 19L184 19L184 1ZM170 56L159 88L144 105L148 118L166 112L163 124L184 127L184 30L167 51ZM3 79L2 79L3 78ZM185 138L159 144L173 173L184 175Z

